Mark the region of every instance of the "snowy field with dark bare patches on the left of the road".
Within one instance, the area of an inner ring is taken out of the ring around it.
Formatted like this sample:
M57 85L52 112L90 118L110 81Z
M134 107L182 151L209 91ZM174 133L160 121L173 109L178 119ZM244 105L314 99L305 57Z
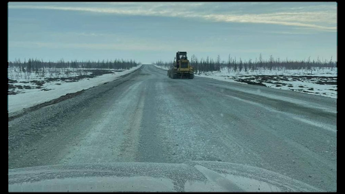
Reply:
M8 69L8 113L14 113L69 93L88 89L118 79L142 65L129 70L114 69L46 69L45 74Z

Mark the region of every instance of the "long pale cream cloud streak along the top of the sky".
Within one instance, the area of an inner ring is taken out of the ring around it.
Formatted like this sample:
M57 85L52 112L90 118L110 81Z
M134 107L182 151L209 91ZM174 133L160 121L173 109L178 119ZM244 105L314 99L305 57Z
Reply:
M95 4L93 4L95 5ZM97 4L104 6L104 4ZM276 12L258 14L228 14L207 13L205 7L215 3L113 3L107 7L72 7L72 6L38 6L38 5L9 5L10 9L52 9L65 11L86 11L105 14L120 14L131 16L165 16L197 18L213 22L264 23L283 26L296 26L309 29L335 31L336 12L334 11L303 11ZM183 5L183 6L182 6ZM323 6L323 5L320 5ZM308 10L308 7L295 10ZM329 6L328 6L329 7ZM315 6L313 7L315 8ZM329 9L331 10L331 9ZM329 26L331 25L331 26ZM333 26L333 27L332 27Z

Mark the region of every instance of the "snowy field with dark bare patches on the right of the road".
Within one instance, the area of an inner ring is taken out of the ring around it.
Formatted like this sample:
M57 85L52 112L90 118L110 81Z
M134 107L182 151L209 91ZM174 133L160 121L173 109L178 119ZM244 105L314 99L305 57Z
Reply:
M168 69L165 66L155 66L161 69ZM195 76L236 83L265 85L277 89L337 98L337 68L312 67L312 70L282 69L270 71L266 69L235 72L223 68L220 72L199 72Z

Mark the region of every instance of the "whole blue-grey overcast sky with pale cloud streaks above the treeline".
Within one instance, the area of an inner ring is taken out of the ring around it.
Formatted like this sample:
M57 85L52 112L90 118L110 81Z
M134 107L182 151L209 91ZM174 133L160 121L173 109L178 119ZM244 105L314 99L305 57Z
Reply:
M336 60L336 3L8 3L8 60Z

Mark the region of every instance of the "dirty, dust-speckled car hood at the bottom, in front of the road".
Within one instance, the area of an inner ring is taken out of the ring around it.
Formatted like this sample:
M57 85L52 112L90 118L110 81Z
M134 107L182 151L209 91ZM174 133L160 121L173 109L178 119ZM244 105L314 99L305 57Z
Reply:
M321 191L262 168L188 161L93 163L8 170L9 191Z

